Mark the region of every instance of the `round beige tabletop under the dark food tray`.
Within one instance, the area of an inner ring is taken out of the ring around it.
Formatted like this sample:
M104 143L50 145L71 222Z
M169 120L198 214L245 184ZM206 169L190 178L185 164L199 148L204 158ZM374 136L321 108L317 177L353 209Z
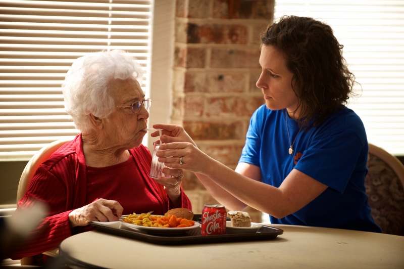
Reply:
M282 229L274 240L163 246L98 231L60 245L68 262L107 268L404 268L404 237L319 227Z

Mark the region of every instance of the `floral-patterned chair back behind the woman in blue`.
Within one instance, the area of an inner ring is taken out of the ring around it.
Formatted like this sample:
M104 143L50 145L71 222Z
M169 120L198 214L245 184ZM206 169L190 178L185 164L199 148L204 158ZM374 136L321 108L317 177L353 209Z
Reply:
M376 224L384 234L404 236L404 165L369 144L368 168L365 186Z

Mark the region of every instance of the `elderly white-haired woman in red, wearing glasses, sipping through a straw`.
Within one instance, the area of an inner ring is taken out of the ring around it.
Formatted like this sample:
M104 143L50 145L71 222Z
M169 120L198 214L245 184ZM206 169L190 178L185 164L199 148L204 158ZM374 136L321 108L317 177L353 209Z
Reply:
M139 81L141 66L123 51L77 59L63 85L66 111L81 133L40 165L17 211L39 200L47 217L13 259L58 247L92 229L90 221L116 221L122 214L164 214L191 204L180 187L182 170L158 184L149 177L151 155L142 143L151 100Z

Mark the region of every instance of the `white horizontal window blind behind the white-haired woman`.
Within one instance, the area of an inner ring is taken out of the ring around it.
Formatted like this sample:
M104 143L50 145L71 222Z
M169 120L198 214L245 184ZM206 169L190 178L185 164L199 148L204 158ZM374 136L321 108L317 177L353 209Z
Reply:
M150 1L0 0L0 9L0 161L77 135L61 90L74 59L120 49L148 74Z

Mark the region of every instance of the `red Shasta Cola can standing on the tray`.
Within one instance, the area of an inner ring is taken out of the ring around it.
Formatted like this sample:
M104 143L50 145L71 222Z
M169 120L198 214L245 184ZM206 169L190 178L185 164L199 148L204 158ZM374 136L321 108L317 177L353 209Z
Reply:
M206 204L202 210L200 235L225 235L227 213L224 205Z

